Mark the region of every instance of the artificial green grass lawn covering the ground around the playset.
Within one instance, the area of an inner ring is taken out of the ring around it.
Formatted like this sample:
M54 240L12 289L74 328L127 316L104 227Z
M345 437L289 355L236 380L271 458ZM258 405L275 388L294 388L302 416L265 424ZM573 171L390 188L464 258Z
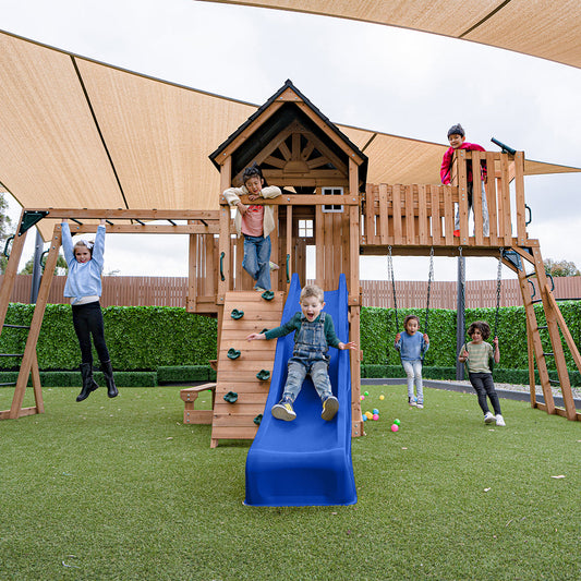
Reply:
M210 449L179 388L45 389L45 414L0 422L0 578L579 578L578 422L501 400L498 428L471 394L425 389L416 410L402 386L364 389L359 501L308 508L243 506L250 443Z

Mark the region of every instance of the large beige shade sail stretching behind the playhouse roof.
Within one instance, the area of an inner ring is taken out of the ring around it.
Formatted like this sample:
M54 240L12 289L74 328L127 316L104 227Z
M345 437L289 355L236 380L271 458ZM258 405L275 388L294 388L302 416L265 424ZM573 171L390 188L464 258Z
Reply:
M257 106L0 33L0 183L25 208L218 209L208 158ZM274 93L274 92L273 92ZM439 183L446 146L337 124L370 183ZM579 171L526 161L526 173ZM50 220L39 222L45 240Z

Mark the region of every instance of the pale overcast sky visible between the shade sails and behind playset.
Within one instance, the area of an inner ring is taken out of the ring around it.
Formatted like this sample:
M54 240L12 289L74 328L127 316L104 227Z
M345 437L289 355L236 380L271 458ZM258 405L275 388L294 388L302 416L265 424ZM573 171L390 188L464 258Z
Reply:
M581 70L501 49L195 0L0 0L0 28L256 105L290 78L336 123L446 144L460 122L487 149L498 150L495 136L530 159L581 167ZM543 256L581 268L581 173L525 178L525 195ZM135 238L109 235L106 271L185 276L185 238ZM362 278L387 278L385 262L366 259ZM496 277L492 258L467 263L469 279ZM427 258L395 266L401 280L427 279ZM437 280L456 274L456 261L436 259Z

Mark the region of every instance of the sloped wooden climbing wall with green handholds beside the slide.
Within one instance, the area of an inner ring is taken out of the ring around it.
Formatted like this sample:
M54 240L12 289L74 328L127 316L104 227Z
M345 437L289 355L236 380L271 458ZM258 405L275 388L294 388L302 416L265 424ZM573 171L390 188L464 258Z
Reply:
M254 439L256 435L270 388L270 378L261 380L256 375L261 371L271 375L277 341L249 342L245 339L251 332L280 325L283 300L285 293L277 291L271 301L266 301L254 290L226 293L218 344L211 448L216 448L220 439ZM233 318L234 310L244 315ZM237 359L228 356L231 349L240 352ZM232 400L232 396L225 399L230 392L238 396L233 402L227 401Z

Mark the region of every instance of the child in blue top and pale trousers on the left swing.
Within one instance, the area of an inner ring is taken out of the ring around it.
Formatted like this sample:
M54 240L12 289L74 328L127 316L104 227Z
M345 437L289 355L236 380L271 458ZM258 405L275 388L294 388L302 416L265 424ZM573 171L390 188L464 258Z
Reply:
M424 407L424 386L422 382L422 362L429 348L427 334L417 331L420 319L415 315L408 315L403 320L404 332L396 335L394 347L399 351L401 364L408 377L408 403L412 408ZM415 383L415 396L413 385Z

